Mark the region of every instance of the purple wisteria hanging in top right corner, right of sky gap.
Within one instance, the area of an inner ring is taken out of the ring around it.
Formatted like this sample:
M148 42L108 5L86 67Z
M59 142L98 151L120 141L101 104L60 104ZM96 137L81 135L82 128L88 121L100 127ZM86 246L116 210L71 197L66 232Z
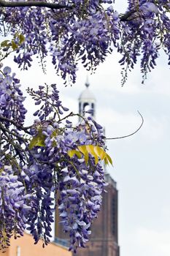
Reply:
M128 11L121 23L121 44L118 47L118 51L123 54L120 64L125 66L123 83L127 78L127 70L134 68L138 56L141 56L143 83L147 72L155 67L161 48L170 61L170 3L169 0L129 0L128 3Z

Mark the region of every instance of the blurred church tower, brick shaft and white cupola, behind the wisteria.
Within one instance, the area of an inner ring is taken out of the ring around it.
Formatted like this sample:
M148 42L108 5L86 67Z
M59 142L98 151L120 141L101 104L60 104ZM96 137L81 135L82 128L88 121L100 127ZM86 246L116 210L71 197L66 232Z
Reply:
M79 97L79 113L81 116L96 118L96 99L89 89L88 81L85 90ZM85 111L90 110L90 113ZM118 246L118 192L116 182L105 170L105 180L108 186L103 194L103 202L98 218L93 221L92 233L85 248L78 248L73 256L120 256ZM58 220L58 212L56 211ZM55 241L67 246L69 237L63 233L61 225L55 223Z

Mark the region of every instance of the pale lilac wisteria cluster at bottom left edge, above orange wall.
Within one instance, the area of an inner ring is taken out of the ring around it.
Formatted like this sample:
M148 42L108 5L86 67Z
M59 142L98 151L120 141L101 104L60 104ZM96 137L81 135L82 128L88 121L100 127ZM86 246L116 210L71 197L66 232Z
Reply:
M23 182L18 180L11 165L1 164L0 173L0 244L1 249L9 246L9 238L23 236L31 195L26 194Z

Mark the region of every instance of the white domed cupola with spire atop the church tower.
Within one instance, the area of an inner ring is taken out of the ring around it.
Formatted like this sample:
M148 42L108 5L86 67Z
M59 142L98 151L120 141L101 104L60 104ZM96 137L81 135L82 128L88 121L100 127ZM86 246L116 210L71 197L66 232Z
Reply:
M89 90L90 83L88 79L85 83L85 90L82 91L79 97L79 114L81 116L96 117L96 99L93 93ZM89 113L86 113L88 111Z

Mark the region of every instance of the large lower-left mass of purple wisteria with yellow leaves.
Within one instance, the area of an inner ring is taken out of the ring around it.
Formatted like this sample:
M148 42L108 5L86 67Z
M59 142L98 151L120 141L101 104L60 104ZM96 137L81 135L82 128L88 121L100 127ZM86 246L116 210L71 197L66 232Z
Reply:
M4 67L0 90L1 249L9 246L11 236L23 236L26 227L35 244L42 239L43 246L47 245L53 212L58 208L63 231L69 233L69 249L76 252L88 241L106 185L99 161L107 157L103 129L90 117L72 124L76 115L63 107L55 84L28 89L37 110L34 124L24 127L25 97L19 84L11 69Z

